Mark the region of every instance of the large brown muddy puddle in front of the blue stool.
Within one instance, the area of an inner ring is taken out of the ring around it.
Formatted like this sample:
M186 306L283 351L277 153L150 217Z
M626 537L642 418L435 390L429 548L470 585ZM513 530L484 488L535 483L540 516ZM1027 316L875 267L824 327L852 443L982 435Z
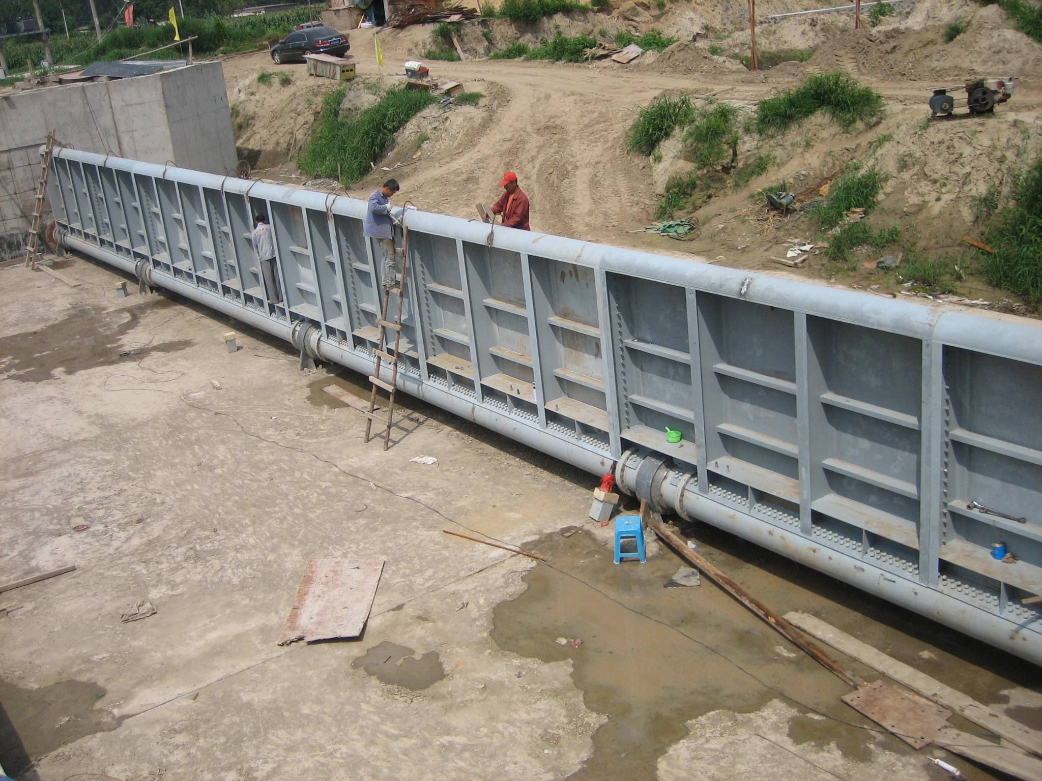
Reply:
M711 595L704 585L664 587L681 563L672 555L615 565L610 548L586 532L568 539L550 535L536 549L609 595L541 565L525 576L520 597L495 609L492 637L500 648L547 662L571 659L586 706L609 716L594 733L593 756L571 778L654 778L659 757L687 735L688 720L720 707L755 710L771 699L729 662L668 626L719 646L734 635L729 627L702 621ZM582 645L562 646L559 637L581 638Z

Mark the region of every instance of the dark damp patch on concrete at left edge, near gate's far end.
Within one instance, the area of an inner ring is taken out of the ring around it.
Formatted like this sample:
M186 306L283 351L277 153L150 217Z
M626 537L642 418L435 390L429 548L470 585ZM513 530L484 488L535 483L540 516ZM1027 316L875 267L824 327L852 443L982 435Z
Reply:
M139 322L143 307L169 306L155 299L128 309L103 311L80 305L60 321L36 331L0 337L0 372L6 379L45 382L58 373L76 374L84 369L137 363L152 353L170 353L191 346L188 339L120 347L120 339Z

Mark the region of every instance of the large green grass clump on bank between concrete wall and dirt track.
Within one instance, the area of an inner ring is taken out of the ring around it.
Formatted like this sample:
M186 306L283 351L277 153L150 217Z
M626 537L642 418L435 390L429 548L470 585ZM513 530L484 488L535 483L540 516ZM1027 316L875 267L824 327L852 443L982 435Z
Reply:
M311 176L339 179L345 185L369 174L394 146L394 134L438 102L425 91L388 90L376 105L342 118L340 105L346 93L347 87L342 86L322 101L319 121L298 160Z

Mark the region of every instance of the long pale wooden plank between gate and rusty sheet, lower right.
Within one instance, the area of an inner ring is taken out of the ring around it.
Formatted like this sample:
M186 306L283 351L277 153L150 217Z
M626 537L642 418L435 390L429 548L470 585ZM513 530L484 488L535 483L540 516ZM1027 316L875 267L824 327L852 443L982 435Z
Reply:
M961 716L991 730L1000 737L1004 737L1011 744L1042 756L1042 732L1029 729L1001 713L996 713L962 691L957 691L928 675L897 661L820 619L798 611L787 613L785 618L792 625L799 627L819 640L827 643L837 651L842 651L847 656L868 664L939 705L950 708Z

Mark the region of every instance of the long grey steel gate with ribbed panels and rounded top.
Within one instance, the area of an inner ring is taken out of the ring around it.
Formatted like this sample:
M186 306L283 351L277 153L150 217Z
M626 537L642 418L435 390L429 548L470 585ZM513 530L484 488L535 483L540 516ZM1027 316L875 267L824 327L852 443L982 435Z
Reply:
M372 372L364 202L69 149L49 193L67 246ZM1042 662L1039 323L403 219L403 391Z

